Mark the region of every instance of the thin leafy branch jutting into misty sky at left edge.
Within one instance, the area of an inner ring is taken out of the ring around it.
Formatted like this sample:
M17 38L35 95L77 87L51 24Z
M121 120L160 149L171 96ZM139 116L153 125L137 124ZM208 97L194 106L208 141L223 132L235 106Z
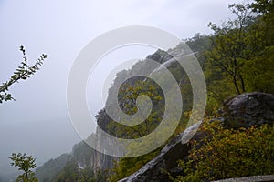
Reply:
M27 64L26 50L23 45L20 46L20 51L23 54L21 66L17 67L14 75L11 76L8 81L0 85L0 104L3 103L3 101L15 100L15 98L8 93L9 86L14 85L20 80L26 80L26 78L34 75L37 70L39 70L39 66L42 66L43 61L47 58L47 55L42 54L39 58L37 58L37 61L33 66L29 66Z

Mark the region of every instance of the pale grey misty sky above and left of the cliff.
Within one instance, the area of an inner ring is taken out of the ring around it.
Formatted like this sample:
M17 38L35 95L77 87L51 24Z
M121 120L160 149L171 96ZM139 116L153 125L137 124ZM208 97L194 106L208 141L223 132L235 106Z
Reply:
M40 165L80 140L69 121L66 86L74 59L93 38L126 25L155 26L180 38L210 34L209 22L232 17L227 5L221 0L0 0L0 81L8 80L22 61L20 45L26 46L29 64L48 55L35 76L10 88L16 102L0 105L0 171L12 152L32 154ZM90 78L97 94L113 67L154 49L123 51L106 56ZM103 104L99 96L88 97L96 113Z

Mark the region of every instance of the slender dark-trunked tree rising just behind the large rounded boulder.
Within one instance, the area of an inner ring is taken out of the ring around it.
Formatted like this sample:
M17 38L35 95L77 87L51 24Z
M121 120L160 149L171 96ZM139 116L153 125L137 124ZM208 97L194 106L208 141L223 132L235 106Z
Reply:
M254 16L249 4L233 4L229 8L237 18L227 21L221 27L209 24L215 35L212 38L213 48L207 52L206 57L213 66L219 66L232 79L237 94L241 94L246 92L243 71L246 60L252 55L252 49L247 44L247 32Z

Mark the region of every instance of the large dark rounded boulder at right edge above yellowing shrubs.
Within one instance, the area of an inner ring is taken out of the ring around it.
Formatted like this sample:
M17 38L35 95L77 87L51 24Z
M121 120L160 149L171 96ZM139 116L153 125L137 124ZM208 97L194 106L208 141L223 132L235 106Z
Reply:
M227 99L224 105L225 126L250 127L274 122L274 96L260 92Z

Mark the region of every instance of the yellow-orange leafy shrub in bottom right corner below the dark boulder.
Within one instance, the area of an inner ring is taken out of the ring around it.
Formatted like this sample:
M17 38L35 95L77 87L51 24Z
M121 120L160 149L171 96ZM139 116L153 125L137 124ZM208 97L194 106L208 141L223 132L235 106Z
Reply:
M219 122L205 123L207 134L194 141L184 174L174 181L207 181L229 177L274 174L274 126L226 129Z

